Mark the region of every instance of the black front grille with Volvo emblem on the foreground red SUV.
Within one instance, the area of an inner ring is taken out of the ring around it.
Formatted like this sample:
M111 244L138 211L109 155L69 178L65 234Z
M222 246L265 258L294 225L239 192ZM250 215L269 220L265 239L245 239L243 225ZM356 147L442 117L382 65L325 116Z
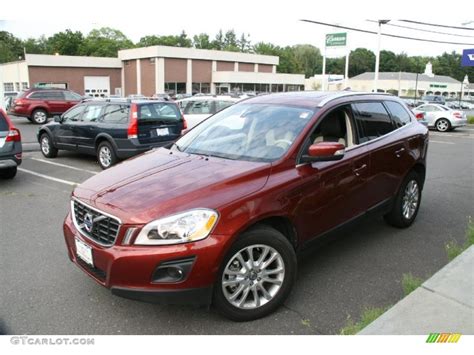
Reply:
M72 213L74 214L75 227L87 238L104 245L111 246L115 243L120 229L120 221L117 218L106 215L77 200L72 201ZM92 220L92 229L86 230L84 221L86 216Z

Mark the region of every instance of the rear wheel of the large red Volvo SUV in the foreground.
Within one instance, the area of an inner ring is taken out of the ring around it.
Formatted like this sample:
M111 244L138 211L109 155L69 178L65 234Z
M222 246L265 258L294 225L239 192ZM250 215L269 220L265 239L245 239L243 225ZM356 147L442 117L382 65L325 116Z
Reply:
M409 227L420 209L421 188L420 176L415 171L408 173L395 197L392 210L384 216L385 221L397 228Z

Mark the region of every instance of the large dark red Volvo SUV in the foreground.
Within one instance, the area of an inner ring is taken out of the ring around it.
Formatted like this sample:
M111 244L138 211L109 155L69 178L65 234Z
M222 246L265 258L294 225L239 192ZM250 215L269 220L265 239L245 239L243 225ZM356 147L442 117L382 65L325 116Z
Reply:
M69 257L116 295L256 319L288 296L310 242L376 210L410 226L427 149L394 96L255 97L77 187Z

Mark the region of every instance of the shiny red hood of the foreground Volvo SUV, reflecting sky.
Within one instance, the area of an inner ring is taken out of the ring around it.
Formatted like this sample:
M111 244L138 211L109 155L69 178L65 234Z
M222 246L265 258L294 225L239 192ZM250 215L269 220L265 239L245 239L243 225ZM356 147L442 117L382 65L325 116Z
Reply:
M78 186L73 197L124 224L191 208L219 208L260 190L271 164L202 157L167 149L118 164Z

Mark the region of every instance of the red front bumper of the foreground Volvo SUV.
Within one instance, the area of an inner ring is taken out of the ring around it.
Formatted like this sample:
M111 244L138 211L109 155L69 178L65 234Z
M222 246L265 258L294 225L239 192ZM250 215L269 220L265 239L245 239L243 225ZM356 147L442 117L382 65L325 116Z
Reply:
M123 225L113 246L104 247L80 234L68 214L63 231L69 258L118 296L153 303L211 303L212 285L228 242L226 236L210 235L198 242L166 246L121 245L125 229L127 226ZM93 266L77 256L75 239L92 249ZM184 280L152 280L163 263L186 258L194 258L194 262Z

